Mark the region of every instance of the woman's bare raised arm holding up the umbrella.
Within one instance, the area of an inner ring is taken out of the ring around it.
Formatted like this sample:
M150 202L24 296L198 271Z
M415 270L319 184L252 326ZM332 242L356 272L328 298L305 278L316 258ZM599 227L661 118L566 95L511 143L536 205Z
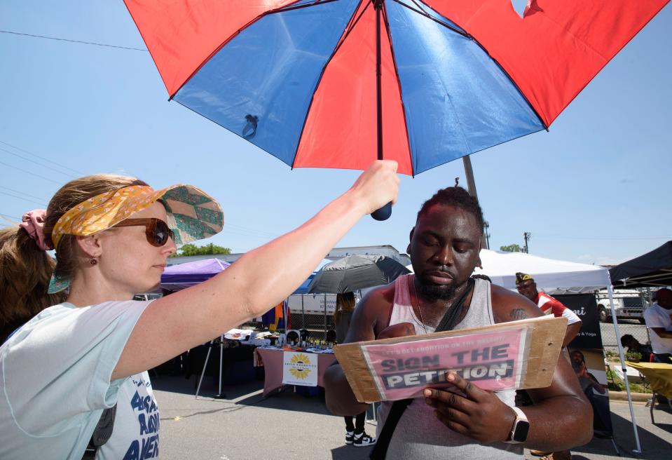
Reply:
M214 278L152 302L112 378L164 363L287 298L362 216L396 202L396 171L395 161L371 163L345 194L299 228L247 252Z

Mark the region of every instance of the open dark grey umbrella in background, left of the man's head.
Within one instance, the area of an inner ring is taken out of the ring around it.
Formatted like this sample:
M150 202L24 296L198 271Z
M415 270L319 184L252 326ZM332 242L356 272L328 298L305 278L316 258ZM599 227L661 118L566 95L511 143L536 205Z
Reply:
M384 255L348 255L323 266L308 292L354 292L391 283L406 273L411 272Z

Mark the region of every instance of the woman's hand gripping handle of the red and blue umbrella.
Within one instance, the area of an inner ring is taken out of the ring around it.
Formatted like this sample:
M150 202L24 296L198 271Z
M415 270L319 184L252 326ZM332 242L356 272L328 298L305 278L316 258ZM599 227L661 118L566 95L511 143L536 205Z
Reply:
M397 203L399 193L399 177L397 162L392 160L376 160L371 162L362 175L357 178L350 191L362 204L364 214Z

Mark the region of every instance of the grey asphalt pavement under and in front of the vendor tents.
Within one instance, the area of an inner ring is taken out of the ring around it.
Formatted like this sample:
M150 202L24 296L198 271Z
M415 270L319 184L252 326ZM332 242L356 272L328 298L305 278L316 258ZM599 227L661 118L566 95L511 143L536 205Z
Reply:
M153 389L161 414L160 458L164 460L359 460L368 459L370 447L345 445L345 423L329 414L319 395L305 397L285 387L263 398L262 381L225 386L226 399L206 379L201 395L195 377L153 377ZM645 403L633 403L643 452L636 454L633 426L627 402L611 400L614 439L596 439L572 449L575 460L639 458L670 459L672 411L657 406L651 423ZM375 432L375 422L366 431ZM616 451L619 449L619 453ZM526 451L526 459L537 459Z

